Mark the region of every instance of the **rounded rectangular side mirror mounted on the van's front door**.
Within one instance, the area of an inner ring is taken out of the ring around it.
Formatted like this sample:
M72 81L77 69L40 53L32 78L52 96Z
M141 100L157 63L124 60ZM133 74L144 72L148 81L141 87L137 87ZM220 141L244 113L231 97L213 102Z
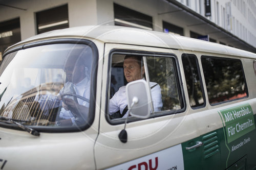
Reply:
M129 113L138 118L150 116L150 94L145 80L136 80L126 85Z

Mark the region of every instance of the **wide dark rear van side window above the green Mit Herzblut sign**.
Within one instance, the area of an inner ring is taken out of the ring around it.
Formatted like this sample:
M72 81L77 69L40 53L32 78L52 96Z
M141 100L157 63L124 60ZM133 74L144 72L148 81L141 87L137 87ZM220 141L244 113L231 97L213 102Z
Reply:
M202 56L201 61L211 105L248 96L240 60Z

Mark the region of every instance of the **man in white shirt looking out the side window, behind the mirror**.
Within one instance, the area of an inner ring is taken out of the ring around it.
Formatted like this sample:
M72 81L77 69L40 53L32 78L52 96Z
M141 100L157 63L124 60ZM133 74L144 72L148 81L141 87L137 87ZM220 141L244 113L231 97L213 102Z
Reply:
M126 55L123 62L123 72L127 82L132 82L139 79L144 79L144 66L141 62L142 57ZM161 111L163 106L162 103L162 94L159 84L150 82L151 94L155 111ZM126 112L125 107L127 106L125 86L119 88L119 90L114 94L109 103L109 114L116 115L116 112L120 111L119 117L127 117L128 113ZM125 112L125 113L124 113ZM118 116L114 116L118 118Z

